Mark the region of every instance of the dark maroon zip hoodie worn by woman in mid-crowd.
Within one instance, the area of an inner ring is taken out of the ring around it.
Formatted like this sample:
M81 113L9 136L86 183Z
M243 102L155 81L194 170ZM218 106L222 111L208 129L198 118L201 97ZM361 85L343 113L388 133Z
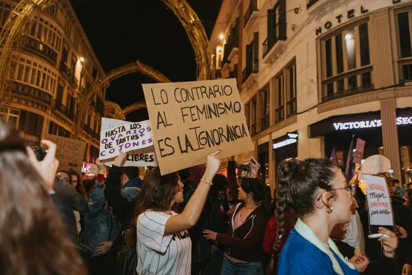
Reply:
M218 234L216 241L226 246L227 255L247 262L259 262L263 258L262 241L266 229L267 215L262 206L258 206L249 217L233 232L234 217L242 209L238 203L229 217L226 234Z

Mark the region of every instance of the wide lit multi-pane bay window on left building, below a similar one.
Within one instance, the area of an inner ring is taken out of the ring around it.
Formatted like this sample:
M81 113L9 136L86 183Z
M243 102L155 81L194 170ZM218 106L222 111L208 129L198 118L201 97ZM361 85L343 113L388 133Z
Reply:
M57 74L52 69L21 57L16 71L15 78L19 82L56 94Z

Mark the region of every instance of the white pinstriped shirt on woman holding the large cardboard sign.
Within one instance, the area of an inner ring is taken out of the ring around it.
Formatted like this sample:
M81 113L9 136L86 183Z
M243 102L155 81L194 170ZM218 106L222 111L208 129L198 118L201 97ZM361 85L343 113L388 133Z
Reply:
M172 215L175 215L172 212ZM192 241L187 230L164 236L171 216L146 211L137 219L137 274L187 274L192 264Z

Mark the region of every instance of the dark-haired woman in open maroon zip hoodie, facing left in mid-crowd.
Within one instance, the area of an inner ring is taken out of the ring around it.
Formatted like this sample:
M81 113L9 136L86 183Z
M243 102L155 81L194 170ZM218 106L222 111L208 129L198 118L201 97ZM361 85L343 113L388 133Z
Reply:
M271 193L262 179L243 178L238 203L229 217L226 234L205 230L206 239L225 245L220 274L263 274L262 240L271 206Z

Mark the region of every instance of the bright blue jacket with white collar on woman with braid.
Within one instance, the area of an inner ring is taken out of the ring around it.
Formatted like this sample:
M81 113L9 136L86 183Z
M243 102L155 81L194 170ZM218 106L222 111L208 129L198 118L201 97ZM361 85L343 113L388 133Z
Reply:
M284 248L280 253L277 274L358 274L358 270L353 265L345 262L341 252L339 252L332 240L329 241L329 247L321 243L312 230L298 219L295 229L290 231ZM334 259L333 262L332 259Z

